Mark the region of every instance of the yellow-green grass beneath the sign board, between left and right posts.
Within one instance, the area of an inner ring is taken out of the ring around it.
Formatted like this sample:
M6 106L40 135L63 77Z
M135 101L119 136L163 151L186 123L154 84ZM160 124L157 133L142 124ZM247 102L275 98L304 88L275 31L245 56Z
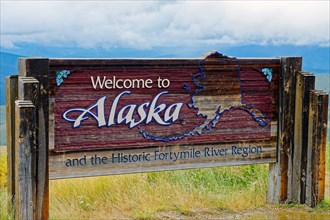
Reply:
M265 201L266 170L245 166L52 181L51 216L155 218L164 211L189 216L200 209L256 208Z

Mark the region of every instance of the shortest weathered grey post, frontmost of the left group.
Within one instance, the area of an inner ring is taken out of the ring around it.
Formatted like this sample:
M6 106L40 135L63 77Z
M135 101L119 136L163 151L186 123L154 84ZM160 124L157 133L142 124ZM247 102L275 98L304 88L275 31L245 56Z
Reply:
M36 109L31 101L16 101L15 218L36 219Z

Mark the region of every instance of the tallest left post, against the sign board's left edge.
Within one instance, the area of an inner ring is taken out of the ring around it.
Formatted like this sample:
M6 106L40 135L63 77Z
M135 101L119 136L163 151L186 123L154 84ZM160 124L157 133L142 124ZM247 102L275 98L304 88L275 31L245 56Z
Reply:
M36 219L48 219L49 216L49 167L48 167L48 111L49 111L49 82L48 82L48 59L44 58L21 58L19 59L19 75L34 77L40 85L39 101L36 102L37 114L37 176L36 176Z

